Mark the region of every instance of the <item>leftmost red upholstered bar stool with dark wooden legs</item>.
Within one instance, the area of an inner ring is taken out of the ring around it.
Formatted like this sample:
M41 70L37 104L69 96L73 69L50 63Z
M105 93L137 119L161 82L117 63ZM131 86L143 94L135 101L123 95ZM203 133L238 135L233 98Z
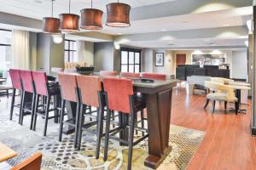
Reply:
M14 108L19 107L20 105L15 105L15 97L16 97L16 90L22 90L21 89L21 82L20 82L20 70L16 69L10 69L9 70L9 75L11 77L11 81L13 84L13 96L12 96L12 102L11 102L11 109L10 109L10 114L9 114L9 120L13 120L13 113L14 113ZM20 94L20 99L22 99L22 93ZM20 102L21 104L21 102ZM21 110L20 110L21 111ZM21 113L20 113L21 116ZM20 118L19 118L19 123L20 123Z

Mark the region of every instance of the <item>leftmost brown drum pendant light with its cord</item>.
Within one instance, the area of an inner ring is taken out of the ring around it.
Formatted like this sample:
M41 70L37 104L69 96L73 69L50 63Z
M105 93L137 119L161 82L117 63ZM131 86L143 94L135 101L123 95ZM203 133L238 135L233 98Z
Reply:
M45 33L59 33L60 19L53 17L53 3L55 0L51 0L51 17L43 18L43 31Z

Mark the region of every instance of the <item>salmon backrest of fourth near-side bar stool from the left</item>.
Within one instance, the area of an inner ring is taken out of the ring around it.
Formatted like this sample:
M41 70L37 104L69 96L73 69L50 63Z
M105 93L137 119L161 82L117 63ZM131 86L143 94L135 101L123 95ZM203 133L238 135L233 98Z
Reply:
M77 77L75 75L59 74L58 78L61 86L61 98L68 101L77 102Z

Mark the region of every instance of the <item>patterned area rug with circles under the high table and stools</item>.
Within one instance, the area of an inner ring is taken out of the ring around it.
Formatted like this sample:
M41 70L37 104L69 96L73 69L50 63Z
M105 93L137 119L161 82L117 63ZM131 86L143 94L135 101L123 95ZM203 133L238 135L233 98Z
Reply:
M6 112L6 111L4 111ZM43 153L42 170L82 170L82 169L126 169L127 147L119 146L119 143L110 140L108 161L95 159L96 135L84 132L81 150L73 149L73 135L63 135L63 140L58 142L58 124L49 121L47 137L43 137L44 119L38 117L37 131L29 130L30 116L24 119L24 125L18 125L17 116L9 121L9 114L0 114L0 141L7 144L19 155L10 159L8 163L12 166L32 153L41 151ZM194 156L205 133L185 127L171 125L170 143L172 152L158 169L183 170ZM104 139L102 139L102 146ZM150 169L144 167L143 162L148 156L148 141L144 140L134 147L132 167L134 169Z

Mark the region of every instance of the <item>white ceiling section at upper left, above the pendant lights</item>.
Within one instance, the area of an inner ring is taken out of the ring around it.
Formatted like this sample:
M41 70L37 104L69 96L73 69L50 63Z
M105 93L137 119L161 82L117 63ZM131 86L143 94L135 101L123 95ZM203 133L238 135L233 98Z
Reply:
M120 3L128 3L131 8L147 6L155 3L166 3L176 0L119 0ZM93 0L93 8L106 11L106 4L117 0ZM71 13L80 14L80 9L90 8L90 0L72 0ZM68 0L55 0L55 17L61 13L68 12ZM50 0L1 0L0 11L9 14L17 14L33 19L42 20L51 13Z

